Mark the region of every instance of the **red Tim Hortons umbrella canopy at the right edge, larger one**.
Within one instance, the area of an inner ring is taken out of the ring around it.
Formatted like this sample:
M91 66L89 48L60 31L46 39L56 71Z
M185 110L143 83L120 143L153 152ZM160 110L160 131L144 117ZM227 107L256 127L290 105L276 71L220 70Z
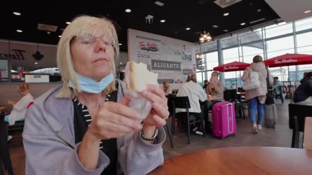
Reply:
M282 67L286 65L312 64L312 55L285 54L263 61L269 68Z

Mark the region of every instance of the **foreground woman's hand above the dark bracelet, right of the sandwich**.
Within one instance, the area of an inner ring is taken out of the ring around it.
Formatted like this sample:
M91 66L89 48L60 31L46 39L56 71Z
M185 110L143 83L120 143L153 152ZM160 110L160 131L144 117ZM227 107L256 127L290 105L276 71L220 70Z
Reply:
M146 137L152 137L156 126L166 124L166 119L169 116L167 98L157 85L148 85L142 95L152 104L150 113L143 120L143 134Z

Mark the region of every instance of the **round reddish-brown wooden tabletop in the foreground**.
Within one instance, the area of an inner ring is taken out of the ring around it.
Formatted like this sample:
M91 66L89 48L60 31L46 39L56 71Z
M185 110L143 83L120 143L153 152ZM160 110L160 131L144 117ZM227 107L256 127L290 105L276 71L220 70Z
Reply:
M167 159L149 174L312 174L312 150L283 147L207 149Z

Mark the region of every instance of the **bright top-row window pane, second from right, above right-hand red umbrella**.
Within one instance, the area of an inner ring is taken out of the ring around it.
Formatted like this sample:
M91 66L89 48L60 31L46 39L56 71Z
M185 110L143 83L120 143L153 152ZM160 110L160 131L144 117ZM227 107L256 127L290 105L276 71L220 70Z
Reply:
M293 32L293 23L288 24L280 23L279 25L265 27L265 38L271 38L292 32Z

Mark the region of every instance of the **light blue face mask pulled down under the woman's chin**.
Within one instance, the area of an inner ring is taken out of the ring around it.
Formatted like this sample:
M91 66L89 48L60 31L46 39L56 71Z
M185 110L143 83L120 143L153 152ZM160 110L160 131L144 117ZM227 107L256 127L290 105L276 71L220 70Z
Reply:
M103 78L100 82L96 82L92 78L85 77L78 73L76 75L81 90L83 92L92 94L101 93L114 80L114 76L112 73L110 73L107 77ZM71 81L69 81L68 86L71 88L75 88L74 84Z

